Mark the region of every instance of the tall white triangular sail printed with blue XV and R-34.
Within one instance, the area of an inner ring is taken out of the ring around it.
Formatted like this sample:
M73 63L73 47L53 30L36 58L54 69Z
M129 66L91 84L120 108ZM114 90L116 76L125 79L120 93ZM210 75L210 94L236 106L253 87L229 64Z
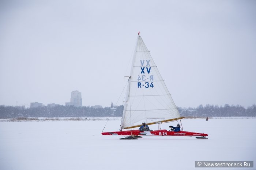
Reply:
M180 118L181 115L141 36L133 56L121 129Z

